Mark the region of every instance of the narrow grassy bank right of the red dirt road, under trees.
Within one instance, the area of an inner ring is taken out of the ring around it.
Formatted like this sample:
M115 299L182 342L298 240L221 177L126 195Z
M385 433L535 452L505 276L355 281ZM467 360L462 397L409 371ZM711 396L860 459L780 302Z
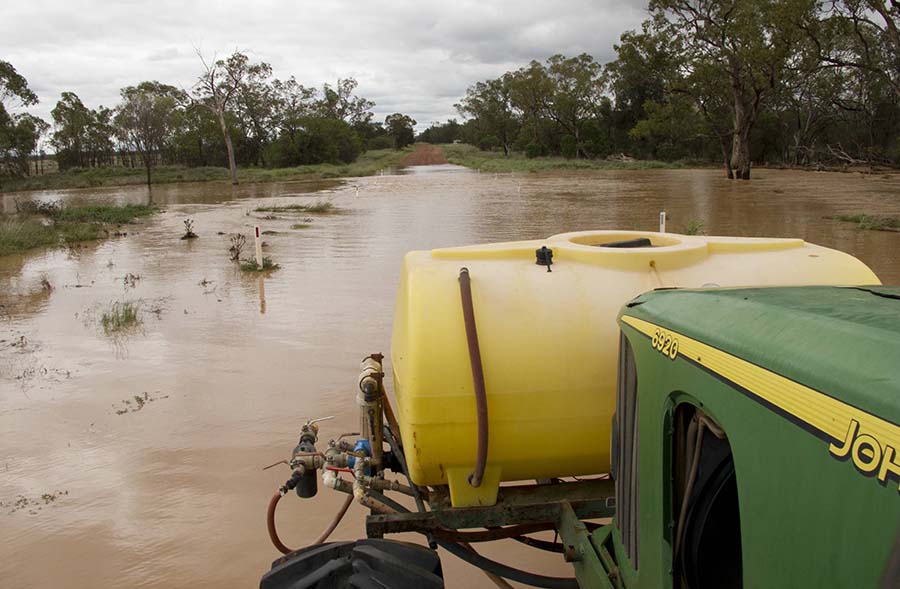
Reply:
M655 168L683 168L677 162L655 160L569 160L562 157L527 158L514 153L481 151L464 144L442 145L444 155L451 164L481 170L482 172L543 172L546 170L649 170Z

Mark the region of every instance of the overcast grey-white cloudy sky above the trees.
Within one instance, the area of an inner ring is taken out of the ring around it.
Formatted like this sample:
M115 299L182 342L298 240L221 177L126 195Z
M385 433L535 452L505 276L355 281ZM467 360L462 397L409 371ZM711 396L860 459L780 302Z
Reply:
M605 63L639 27L646 0L31 0L0 9L0 59L38 94L30 112L50 121L63 91L114 106L142 80L188 88L200 62L235 49L321 87L359 81L375 115L419 122L457 117L466 87L531 59L587 52Z

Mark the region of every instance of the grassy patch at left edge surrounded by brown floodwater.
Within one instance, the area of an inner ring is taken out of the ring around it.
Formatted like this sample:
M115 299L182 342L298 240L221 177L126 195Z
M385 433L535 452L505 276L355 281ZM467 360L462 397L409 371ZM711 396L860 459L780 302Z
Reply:
M134 223L156 212L149 205L59 208L35 207L17 215L0 216L0 256L36 247L103 239L113 225Z

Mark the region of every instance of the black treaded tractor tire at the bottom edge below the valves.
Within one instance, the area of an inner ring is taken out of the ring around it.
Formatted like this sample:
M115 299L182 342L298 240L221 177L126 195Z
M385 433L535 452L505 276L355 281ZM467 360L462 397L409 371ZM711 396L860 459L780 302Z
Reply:
M392 540L308 546L272 563L260 589L442 589L437 552Z

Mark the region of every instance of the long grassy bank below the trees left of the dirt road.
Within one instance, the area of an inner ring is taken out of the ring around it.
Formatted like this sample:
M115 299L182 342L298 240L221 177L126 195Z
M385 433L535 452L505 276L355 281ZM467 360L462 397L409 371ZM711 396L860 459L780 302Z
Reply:
M352 164L316 164L294 168L240 168L241 182L286 182L290 180L317 180L323 178L350 178L373 176L384 168L399 165L411 148L394 150L378 149L368 151ZM72 169L57 174L44 174L14 180L4 180L0 192L21 190L47 190L61 188L92 188L96 186L128 186L145 184L146 171L143 168L89 168ZM185 168L182 166L160 166L153 170L153 184L176 182L216 182L229 179L228 168Z

